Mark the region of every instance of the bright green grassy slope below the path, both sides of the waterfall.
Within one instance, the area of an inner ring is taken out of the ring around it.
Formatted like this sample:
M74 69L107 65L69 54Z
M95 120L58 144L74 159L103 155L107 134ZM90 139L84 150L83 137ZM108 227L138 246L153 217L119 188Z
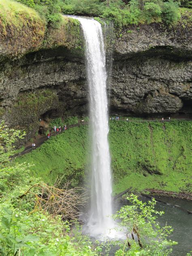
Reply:
M52 137L17 162L30 162L32 175L53 183L57 175L76 186L86 180L88 127ZM192 122L110 122L113 193L132 187L191 192Z

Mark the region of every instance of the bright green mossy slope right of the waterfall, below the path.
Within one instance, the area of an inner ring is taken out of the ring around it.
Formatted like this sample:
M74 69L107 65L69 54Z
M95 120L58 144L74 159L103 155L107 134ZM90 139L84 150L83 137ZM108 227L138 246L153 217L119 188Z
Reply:
M115 192L191 191L192 122L115 122L109 137Z

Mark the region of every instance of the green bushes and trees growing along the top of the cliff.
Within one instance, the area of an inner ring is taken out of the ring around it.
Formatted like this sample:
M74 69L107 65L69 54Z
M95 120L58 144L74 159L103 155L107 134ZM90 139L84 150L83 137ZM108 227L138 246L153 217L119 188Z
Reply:
M61 22L59 13L85 15L113 21L116 26L128 24L164 22L175 24L180 18L179 1L169 0L130 0L125 4L122 0L17 0L43 15L52 26ZM186 2L185 2L186 1ZM182 6L190 7L188 0Z

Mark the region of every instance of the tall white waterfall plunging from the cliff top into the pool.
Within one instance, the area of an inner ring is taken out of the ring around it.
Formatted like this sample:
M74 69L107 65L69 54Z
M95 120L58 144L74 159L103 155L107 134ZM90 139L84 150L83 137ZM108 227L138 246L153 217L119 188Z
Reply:
M91 207L88 228L91 234L109 233L113 228L111 168L108 143L107 72L102 28L98 21L74 17L81 23L85 38L87 80L90 95L92 134Z

